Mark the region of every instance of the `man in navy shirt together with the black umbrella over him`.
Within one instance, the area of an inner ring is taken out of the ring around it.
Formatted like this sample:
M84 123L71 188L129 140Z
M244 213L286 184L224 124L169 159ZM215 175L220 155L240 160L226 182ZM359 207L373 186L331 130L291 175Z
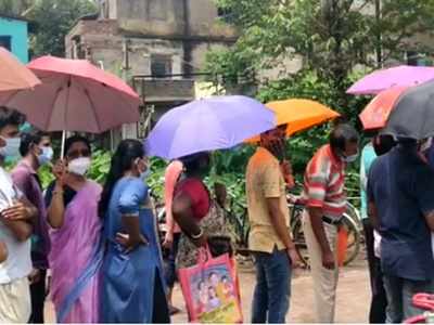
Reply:
M434 170L425 156L434 135L433 96L430 81L398 99L383 130L398 145L373 162L368 179L369 216L382 236L391 323L420 313L411 303L413 295L434 294Z

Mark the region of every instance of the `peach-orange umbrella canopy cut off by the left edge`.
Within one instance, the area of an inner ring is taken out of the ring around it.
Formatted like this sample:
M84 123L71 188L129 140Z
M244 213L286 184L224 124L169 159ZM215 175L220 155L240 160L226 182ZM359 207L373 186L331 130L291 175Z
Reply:
M34 88L40 80L11 52L0 47L0 91Z

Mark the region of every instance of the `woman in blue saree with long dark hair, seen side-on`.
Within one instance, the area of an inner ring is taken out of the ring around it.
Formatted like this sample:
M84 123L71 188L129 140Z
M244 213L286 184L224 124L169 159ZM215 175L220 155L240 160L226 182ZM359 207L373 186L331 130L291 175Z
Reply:
M142 143L124 140L112 158L100 202L106 239L102 323L170 322L145 171Z

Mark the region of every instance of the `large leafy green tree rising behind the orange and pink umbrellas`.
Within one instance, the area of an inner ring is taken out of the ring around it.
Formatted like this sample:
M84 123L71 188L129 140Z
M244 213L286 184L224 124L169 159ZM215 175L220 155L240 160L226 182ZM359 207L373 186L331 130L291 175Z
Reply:
M432 47L413 40L419 35L431 35L433 0L383 0L375 5L379 2L216 0L230 13L240 38L232 49L210 53L206 68L237 76L277 66L297 54L304 58L303 70L298 76L279 79L280 86L312 75L329 86L328 99L319 100L333 102L333 107L353 116L354 109L348 108L352 99L345 91L357 65L373 68L391 58L401 58L405 50L426 52ZM263 83L263 91L272 89L272 83Z

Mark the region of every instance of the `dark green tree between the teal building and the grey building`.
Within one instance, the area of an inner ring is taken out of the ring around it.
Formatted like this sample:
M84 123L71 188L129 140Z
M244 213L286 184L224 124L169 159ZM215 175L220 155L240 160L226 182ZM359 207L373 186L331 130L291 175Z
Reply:
M27 15L36 24L30 37L33 55L64 56L65 36L79 17L95 12L90 0L36 0Z

